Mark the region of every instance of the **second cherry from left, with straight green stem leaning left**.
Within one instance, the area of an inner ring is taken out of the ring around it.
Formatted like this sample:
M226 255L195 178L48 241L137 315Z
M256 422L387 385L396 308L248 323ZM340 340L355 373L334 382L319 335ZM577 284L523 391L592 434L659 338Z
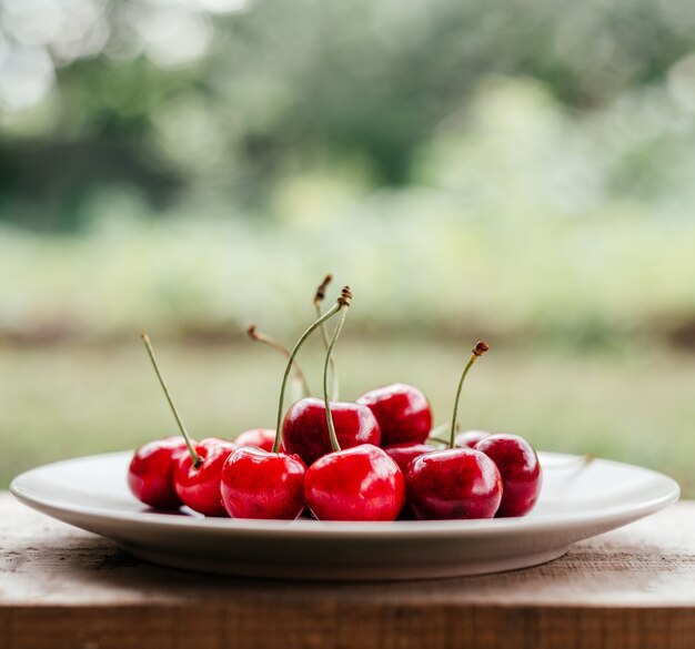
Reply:
M150 336L142 334L141 337L189 452L179 458L174 467L173 485L177 495L194 511L205 516L224 516L225 510L220 495L220 473L226 456L238 446L219 437L210 437L193 444L159 368Z

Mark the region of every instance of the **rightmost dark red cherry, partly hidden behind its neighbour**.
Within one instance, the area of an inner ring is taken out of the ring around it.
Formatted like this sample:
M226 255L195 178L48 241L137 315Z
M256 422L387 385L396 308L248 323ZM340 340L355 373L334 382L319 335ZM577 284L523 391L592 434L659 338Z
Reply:
M536 452L518 435L490 435L476 450L490 457L500 469L503 494L497 517L524 516L538 499L543 474Z

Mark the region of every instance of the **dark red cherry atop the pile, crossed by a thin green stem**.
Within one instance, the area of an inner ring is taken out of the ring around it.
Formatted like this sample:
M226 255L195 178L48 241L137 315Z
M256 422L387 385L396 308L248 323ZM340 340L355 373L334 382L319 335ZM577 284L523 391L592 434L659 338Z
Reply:
M341 448L361 444L379 446L381 430L366 406L332 402L330 407ZM293 404L282 424L282 440L285 450L299 455L306 466L331 453L324 400L309 397Z

